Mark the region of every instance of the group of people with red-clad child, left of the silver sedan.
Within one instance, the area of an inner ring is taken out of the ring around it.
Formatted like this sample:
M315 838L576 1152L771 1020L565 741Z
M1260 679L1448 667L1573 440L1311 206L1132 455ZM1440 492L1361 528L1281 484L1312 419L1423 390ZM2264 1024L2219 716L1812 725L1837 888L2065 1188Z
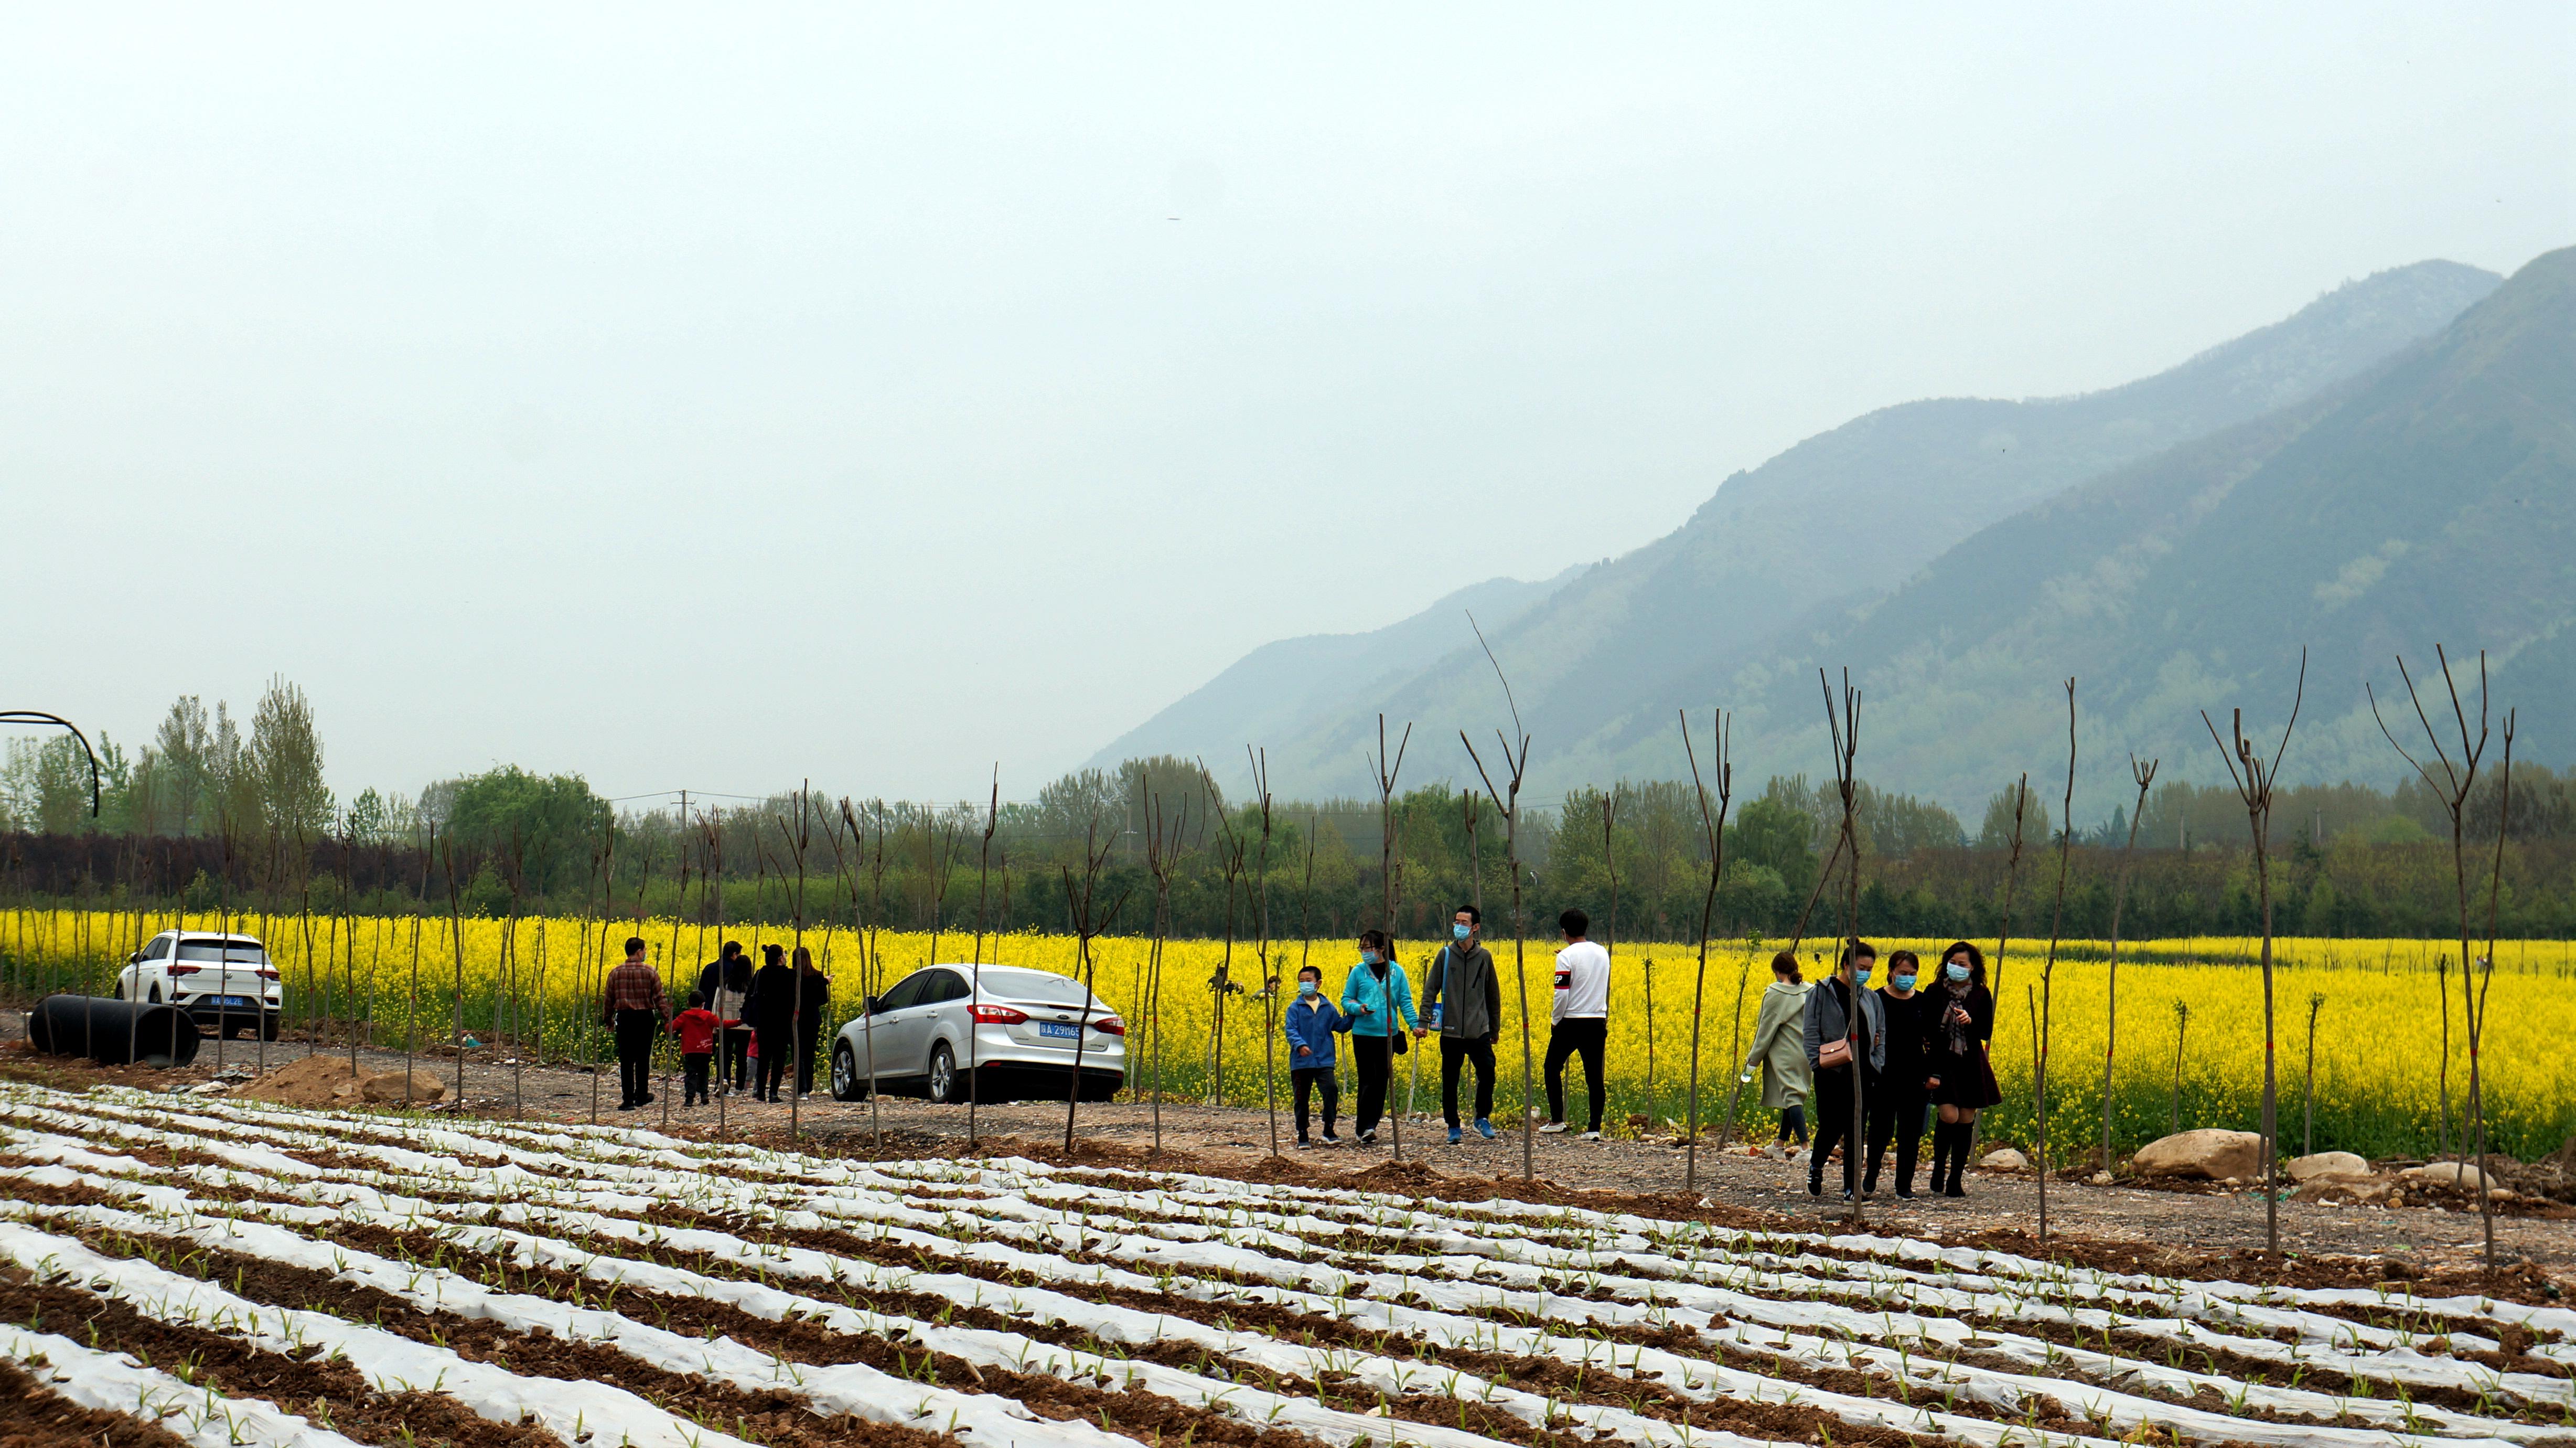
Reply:
M814 969L814 951L762 946L762 964L739 940L726 940L688 992L688 1010L672 1013L662 974L644 958L644 938L626 938L626 961L608 971L600 1013L618 1041L618 1110L652 1105L652 1051L662 1036L680 1038L680 1105L703 1105L711 1090L752 1100L781 1100L788 1062L796 1095L814 1095L814 1049L832 1005L832 976Z

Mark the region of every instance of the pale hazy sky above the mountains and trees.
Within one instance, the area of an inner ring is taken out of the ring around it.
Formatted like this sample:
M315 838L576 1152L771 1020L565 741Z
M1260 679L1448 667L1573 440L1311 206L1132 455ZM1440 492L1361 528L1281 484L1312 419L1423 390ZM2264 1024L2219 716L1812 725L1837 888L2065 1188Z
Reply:
M0 18L0 706L1028 796L1870 407L2576 242L2563 3L526 10Z

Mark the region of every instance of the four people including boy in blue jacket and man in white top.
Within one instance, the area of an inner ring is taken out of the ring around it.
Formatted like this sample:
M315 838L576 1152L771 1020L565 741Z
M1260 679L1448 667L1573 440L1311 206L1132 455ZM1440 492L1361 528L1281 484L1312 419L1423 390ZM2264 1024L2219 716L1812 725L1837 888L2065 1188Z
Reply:
M1556 997L1548 1007L1548 1123L1540 1131L1566 1131L1566 1062L1582 1056L1584 1085L1589 1087L1589 1126L1584 1139L1602 1134L1602 1103L1607 1077L1602 1054L1610 1038L1610 953L1587 938L1592 917L1566 910L1556 920L1566 948L1556 953ZM1378 1121L1386 1118L1386 1092L1396 1074L1396 1056L1412 1051L1414 1041L1440 1036L1440 1116L1448 1121L1448 1139L1455 1147L1466 1139L1458 1110L1458 1087L1466 1067L1476 1067L1473 1116L1476 1134L1492 1141L1494 1131L1494 1041L1502 1036L1502 976L1494 971L1494 953L1484 948L1484 912L1461 904L1450 915L1450 940L1432 956L1422 979L1422 1010L1414 1010L1414 989L1396 961L1394 943L1383 930L1360 933L1360 964L1342 976L1340 1005L1324 997L1324 971L1298 969L1298 995L1280 1018L1288 1036L1288 1082L1296 1098L1296 1144L1314 1147L1309 1134L1314 1100L1324 1108L1324 1147L1340 1147L1334 1134L1340 1116L1340 1054L1334 1036L1350 1036L1358 1103L1352 1123L1363 1147L1378 1141ZM1399 1025L1401 1023L1401 1025Z

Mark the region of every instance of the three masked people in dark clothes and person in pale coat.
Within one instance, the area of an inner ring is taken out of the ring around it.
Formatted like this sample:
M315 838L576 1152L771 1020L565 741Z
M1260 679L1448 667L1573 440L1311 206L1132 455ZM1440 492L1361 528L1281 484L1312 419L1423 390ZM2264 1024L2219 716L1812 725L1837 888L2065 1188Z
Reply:
M1883 976L1883 979L1880 979ZM1772 956L1752 1051L1741 1074L1762 1069L1762 1105L1780 1113L1775 1149L1808 1141L1806 1190L1824 1196L1824 1162L1842 1147L1842 1196L1878 1193L1888 1144L1896 1144L1896 1196L1914 1196L1922 1139L1932 1136L1932 1190L1968 1196L1960 1175L1976 1141L1976 1113L2002 1100L1994 1064L1994 992L1986 956L1953 940L1937 974L1924 976L1914 951L1896 951L1880 971L1878 948L1847 940L1834 976L1808 984L1798 956ZM1862 1139L1852 1139L1852 1092L1860 1092ZM1860 1170L1862 1144L1868 1170Z

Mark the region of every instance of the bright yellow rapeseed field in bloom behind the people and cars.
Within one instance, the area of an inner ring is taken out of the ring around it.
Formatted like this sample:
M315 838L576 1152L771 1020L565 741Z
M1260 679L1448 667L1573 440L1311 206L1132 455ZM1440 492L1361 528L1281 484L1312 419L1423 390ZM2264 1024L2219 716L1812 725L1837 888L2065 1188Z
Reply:
M5 989L26 997L46 989L108 992L126 951L157 930L175 925L162 915L18 910L0 912L0 971ZM613 946L629 933L652 946L675 989L688 989L701 961L714 958L719 935L711 928L675 920L464 920L461 933L446 917L188 917L185 928L232 928L268 940L289 984L289 1028L322 1018L337 1036L358 1020L374 1041L446 1041L461 1018L469 1033L528 1043L546 1056L603 1059L605 1041L595 1028L600 971ZM796 943L791 928L729 925L721 938ZM969 961L976 956L971 933L940 933L933 956L927 933L860 933L850 928L809 928L804 943L832 974L835 1020L855 1015L871 984L902 979L930 958ZM1878 940L1880 951L1914 948L1932 958L1945 940ZM1703 1118L1726 1113L1734 1087L1736 1041L1759 1010L1770 982L1767 961L1780 940L1713 943L1705 979L1705 1028L1700 1041ZM1502 964L1504 1033L1497 1049L1502 1082L1497 1116L1520 1110L1520 984L1528 984L1533 1025L1530 1054L1546 1049L1553 943L1522 946L1522 979L1512 979L1512 943L1494 943ZM1981 940L1994 951L1994 940ZM1146 997L1146 958L1141 938L1092 943L1092 982L1103 1000L1131 1023L1136 1049L1136 1090L1151 1085L1154 1018ZM1422 971L1435 943L1399 946L1404 969L1419 995ZM2481 946L2483 951L2483 946ZM981 956L989 964L1036 966L1079 974L1077 940L1069 935L987 935ZM1808 979L1821 979L1821 951L1806 948ZM2027 989L2040 984L2045 940L2014 940L1999 969L1999 1028L1994 1069L2004 1085L2004 1105L1991 1116L1991 1136L2032 1139L2032 1020ZM2053 971L2050 1010L2050 1141L2056 1154L2074 1159L2099 1141L2102 1131L2102 1041L2105 992L2110 982L2107 948L2099 940L2066 943ZM2136 940L2120 951L2120 1033L2115 1072L2115 1136L2123 1149L2182 1126L2254 1129L2262 1105L2262 974L2259 940ZM1226 948L1216 940L1175 940L1164 946L1162 987L1162 1087L1175 1100L1206 1100L1213 1085L1236 1105L1260 1105L1265 1069L1273 1067L1270 1007L1262 1000L1260 951L1234 946L1231 979L1242 987L1224 1002L1211 979ZM677 961L677 971L667 969ZM1273 969L1293 979L1301 961L1314 961L1329 992L1355 964L1347 940L1273 943ZM1620 943L1613 956L1610 992L1610 1113L1625 1123L1641 1113L1662 1129L1687 1108L1690 1020L1695 946ZM2468 1041L2460 1002L2458 943L2439 940L2277 940L2275 1005L2280 1020L2280 1131L2285 1149L2308 1141L2308 1018L2316 1002L2316 1100L2313 1144L2372 1157L2429 1154L2445 1139L2442 1031L2450 1010L2450 1123L2458 1131L2468 1090ZM2447 971L2447 974L2445 974ZM2445 989L2447 984L2447 989ZM461 987L461 989L459 989ZM2576 1072L2566 1067L2563 1043L2576 1038L2576 951L2566 940L2506 940L2496 951L2488 982L2488 1036L2483 1043L2491 1141L2496 1149L2535 1157L2576 1134ZM2321 1000L2318 1000L2321 997ZM1224 1025L1218 1028L1218 1007ZM2177 1013L2187 1007L2187 1015ZM2179 1046L2179 1051L2177 1051ZM1350 1067L1345 1064L1345 1072ZM1419 1085L1417 1077L1419 1074ZM1577 1067L1579 1072L1579 1067ZM1280 1069L1285 1082L1285 1069ZM1535 1082L1533 1082L1535 1087ZM1752 1105L1747 1090L1739 1129L1770 1131L1767 1113ZM1414 1051L1399 1062L1396 1103L1437 1108L1437 1051Z

